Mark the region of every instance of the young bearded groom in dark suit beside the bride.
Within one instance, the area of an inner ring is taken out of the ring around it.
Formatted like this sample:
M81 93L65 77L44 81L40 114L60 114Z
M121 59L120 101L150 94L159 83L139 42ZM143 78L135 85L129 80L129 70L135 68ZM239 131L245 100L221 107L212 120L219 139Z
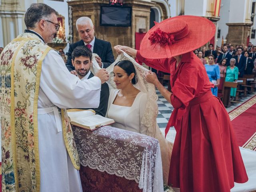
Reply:
M92 78L94 75L90 71L92 66L92 51L86 46L77 46L72 52L72 65L74 66L74 73L80 80ZM98 108L93 109L96 114L106 116L108 109L109 88L108 84L101 85L100 91L100 105Z

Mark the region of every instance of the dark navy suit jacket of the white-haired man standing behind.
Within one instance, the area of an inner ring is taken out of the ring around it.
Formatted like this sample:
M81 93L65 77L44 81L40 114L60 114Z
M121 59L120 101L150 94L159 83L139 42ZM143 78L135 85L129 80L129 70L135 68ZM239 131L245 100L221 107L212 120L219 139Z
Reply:
M98 56L101 58L101 61L103 63L103 67L107 68L108 66L110 66L114 61L114 55L112 52L112 48L111 48L111 44L110 42L104 41L104 40L100 40L95 38L95 42L94 42L94 48L93 48L93 53L98 54ZM68 68L69 71L74 70L75 68L72 65L72 52L74 50L74 48L76 48L77 46L83 46L84 45L84 41L80 40L76 43L70 44L69 46L69 50L68 50L68 59L66 62L66 67Z

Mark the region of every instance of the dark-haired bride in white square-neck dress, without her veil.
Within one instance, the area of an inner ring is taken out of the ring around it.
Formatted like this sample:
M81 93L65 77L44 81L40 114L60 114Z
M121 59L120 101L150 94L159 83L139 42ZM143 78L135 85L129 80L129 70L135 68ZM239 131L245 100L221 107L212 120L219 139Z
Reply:
M146 135L148 128L140 122L147 94L133 86L136 84L136 71L132 62L122 60L116 63L113 75L116 89L110 90L106 116L115 120L113 127Z

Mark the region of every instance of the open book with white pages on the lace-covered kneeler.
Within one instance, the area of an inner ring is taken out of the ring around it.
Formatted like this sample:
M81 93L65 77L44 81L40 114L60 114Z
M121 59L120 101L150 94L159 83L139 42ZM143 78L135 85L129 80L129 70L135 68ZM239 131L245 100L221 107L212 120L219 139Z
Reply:
M114 123L113 119L96 115L94 110L68 109L67 111L72 125L89 130Z

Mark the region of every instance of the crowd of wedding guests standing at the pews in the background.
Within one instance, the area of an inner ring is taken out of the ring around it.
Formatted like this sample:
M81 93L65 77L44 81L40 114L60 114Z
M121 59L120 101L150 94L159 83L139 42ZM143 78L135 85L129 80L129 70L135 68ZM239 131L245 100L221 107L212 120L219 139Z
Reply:
M212 94L218 96L218 86L220 78L224 77L227 82L237 82L238 78L243 78L244 74L256 74L256 46L251 42L248 46L234 45L231 43L216 47L209 44L201 49L194 50L194 54L200 58L206 68L209 80L214 84ZM236 88L231 88L231 99L236 96Z

